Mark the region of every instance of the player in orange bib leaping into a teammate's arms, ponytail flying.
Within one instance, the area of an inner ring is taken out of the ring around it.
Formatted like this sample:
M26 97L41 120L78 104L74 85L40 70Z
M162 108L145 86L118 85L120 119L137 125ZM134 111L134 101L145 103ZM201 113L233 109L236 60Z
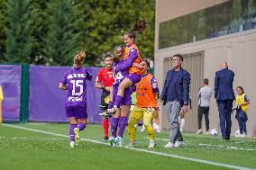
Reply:
M144 20L137 22L134 24L133 30L127 31L123 36L123 42L126 46L124 49L124 61L123 63L114 67L114 74L117 74L120 70L129 68L129 76L125 77L121 84L118 86L118 92L114 100L114 106L113 108L108 109L108 112L115 112L117 108L120 108L120 105L123 102L124 89L128 89L129 87L135 85L142 78L142 70L140 69L142 68L140 67L142 58L134 41L136 38L136 33L142 33L142 31L144 31L147 26L148 24Z

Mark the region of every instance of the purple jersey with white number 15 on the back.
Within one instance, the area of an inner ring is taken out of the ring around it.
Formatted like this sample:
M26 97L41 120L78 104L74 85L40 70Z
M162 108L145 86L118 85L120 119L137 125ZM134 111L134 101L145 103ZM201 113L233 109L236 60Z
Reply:
M60 81L61 84L68 86L66 94L66 106L87 106L87 80L91 80L92 76L83 67L73 67L65 73Z

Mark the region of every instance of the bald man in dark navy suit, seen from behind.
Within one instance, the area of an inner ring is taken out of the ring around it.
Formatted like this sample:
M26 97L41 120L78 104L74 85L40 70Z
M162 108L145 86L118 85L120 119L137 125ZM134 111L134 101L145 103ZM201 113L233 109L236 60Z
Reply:
M215 99L217 101L220 126L223 139L230 139L231 112L234 100L232 70L228 69L226 62L221 64L221 70L215 73Z

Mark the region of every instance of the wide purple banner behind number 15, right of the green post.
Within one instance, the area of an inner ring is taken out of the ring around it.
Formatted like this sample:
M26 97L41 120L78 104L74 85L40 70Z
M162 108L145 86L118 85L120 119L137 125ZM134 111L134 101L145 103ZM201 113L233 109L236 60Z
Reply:
M59 89L59 82L71 67L30 66L29 121L69 121L65 114L66 91ZM98 67L87 67L92 82L87 82L87 122L100 123L99 103L101 91L95 81Z

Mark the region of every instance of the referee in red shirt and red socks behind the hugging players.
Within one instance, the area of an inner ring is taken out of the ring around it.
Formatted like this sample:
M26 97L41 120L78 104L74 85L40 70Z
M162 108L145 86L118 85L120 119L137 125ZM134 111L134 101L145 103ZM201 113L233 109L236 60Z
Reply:
M101 94L101 103L100 109L105 112L108 106L108 103L105 103L105 97L110 94L111 86L114 83L113 69L112 69L112 56L108 55L104 60L105 67L101 68L96 76L96 88L102 89ZM103 85L101 85L101 82ZM104 139L108 139L108 117L103 116L102 125L105 137Z

